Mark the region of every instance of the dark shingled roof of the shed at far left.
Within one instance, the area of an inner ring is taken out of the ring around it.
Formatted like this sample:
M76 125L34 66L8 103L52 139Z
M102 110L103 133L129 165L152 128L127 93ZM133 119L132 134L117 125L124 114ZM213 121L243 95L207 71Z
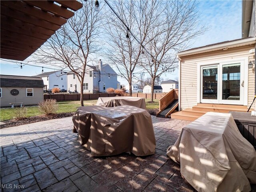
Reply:
M0 75L0 87L44 87L40 77Z

